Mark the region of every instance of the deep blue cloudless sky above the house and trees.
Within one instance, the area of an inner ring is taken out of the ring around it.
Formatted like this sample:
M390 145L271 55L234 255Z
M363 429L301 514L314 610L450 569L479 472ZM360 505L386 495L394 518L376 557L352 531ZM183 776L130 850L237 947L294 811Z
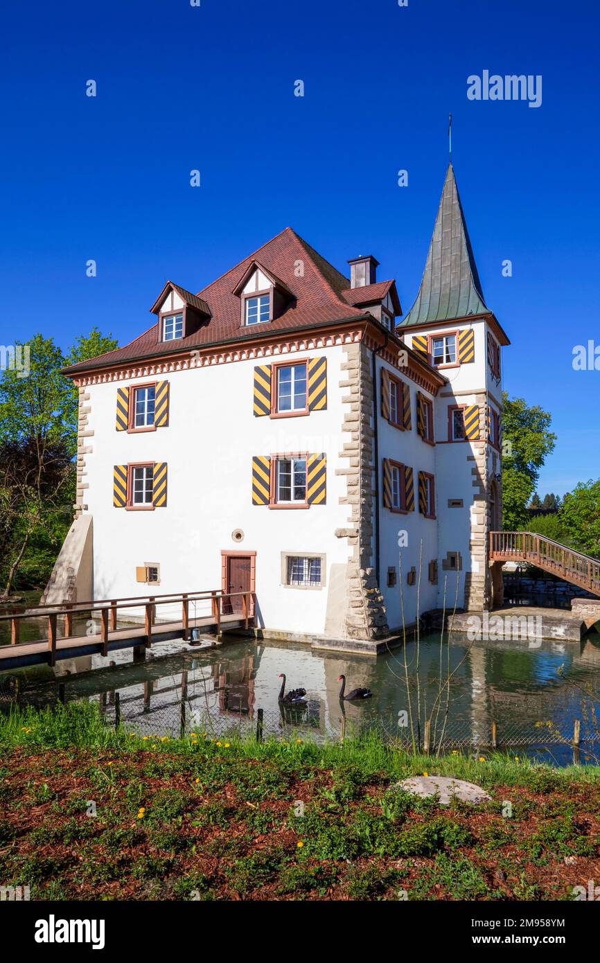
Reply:
M197 291L287 225L343 271L373 252L407 311L452 111L506 387L559 435L540 491L600 476L600 372L571 366L600 344L595 0L33 0L1 21L0 343L95 324L125 344L167 278ZM541 74L541 107L469 101L483 69Z

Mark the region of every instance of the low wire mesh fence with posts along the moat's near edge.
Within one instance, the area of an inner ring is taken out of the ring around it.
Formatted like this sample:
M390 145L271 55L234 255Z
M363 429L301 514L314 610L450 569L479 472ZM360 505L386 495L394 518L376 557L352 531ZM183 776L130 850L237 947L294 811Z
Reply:
M493 703L480 716L446 716L443 710L424 714L396 715L366 711L365 706L333 708L320 699L305 705L279 703L278 709L262 708L251 700L223 692L214 693L187 685L185 673L173 685L155 690L149 685L104 690L83 695L69 690L68 681L44 680L43 684L17 677L0 677L0 711L16 705L55 706L71 701L95 702L110 726L122 725L141 736L157 738L277 739L306 742L344 741L376 734L408 750L415 745L429 752L519 747L563 746L600 754L600 724L593 712L582 708L580 718L544 718L544 704L535 705L537 718L517 719L499 711ZM427 716L427 717L425 717Z

